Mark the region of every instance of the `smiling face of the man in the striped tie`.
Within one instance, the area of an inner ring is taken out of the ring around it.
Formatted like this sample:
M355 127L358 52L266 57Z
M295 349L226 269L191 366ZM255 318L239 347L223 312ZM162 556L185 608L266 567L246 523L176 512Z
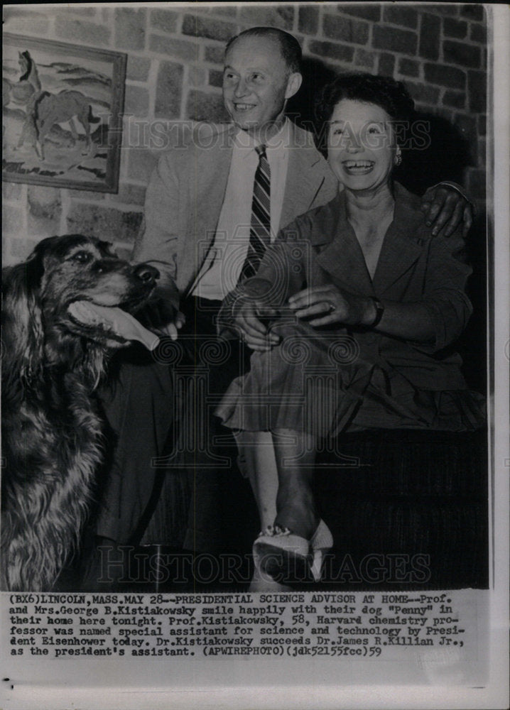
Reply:
M271 124L283 118L286 99L299 84L300 75L290 74L274 38L242 37L225 57L225 107L234 124L249 133L271 133Z

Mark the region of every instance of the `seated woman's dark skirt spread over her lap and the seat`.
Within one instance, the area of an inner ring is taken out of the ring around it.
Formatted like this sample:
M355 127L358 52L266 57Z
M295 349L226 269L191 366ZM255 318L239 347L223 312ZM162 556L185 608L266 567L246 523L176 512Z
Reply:
M280 344L252 354L251 370L234 379L215 412L231 429L325 438L347 430L469 431L484 424L479 393L418 389L384 360L362 359L348 335L327 337L295 322L273 332Z

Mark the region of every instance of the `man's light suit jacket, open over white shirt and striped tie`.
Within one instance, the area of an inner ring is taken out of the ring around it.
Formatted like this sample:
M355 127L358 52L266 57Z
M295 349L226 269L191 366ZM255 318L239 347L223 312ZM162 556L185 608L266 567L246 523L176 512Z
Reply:
M145 228L134 259L161 273L161 290L174 305L188 293L207 258L222 209L232 159L233 124L197 124L161 156L148 184ZM286 188L280 226L326 204L338 183L313 137L291 122Z

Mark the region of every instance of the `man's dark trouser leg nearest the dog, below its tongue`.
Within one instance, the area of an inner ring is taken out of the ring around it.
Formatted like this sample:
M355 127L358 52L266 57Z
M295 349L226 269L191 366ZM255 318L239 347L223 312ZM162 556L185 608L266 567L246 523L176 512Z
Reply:
M110 364L109 381L98 392L110 448L99 481L100 537L121 544L141 540L160 472L156 459L173 445L174 395L171 368L141 346L120 351Z

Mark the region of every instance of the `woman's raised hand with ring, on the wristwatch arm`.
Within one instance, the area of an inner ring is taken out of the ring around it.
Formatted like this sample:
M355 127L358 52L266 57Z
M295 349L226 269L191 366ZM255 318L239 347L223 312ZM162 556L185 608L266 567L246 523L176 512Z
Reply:
M345 325L370 325L376 317L376 307L371 298L341 291L335 285L314 286L295 293L288 305L298 318L310 318L314 327L343 323Z

